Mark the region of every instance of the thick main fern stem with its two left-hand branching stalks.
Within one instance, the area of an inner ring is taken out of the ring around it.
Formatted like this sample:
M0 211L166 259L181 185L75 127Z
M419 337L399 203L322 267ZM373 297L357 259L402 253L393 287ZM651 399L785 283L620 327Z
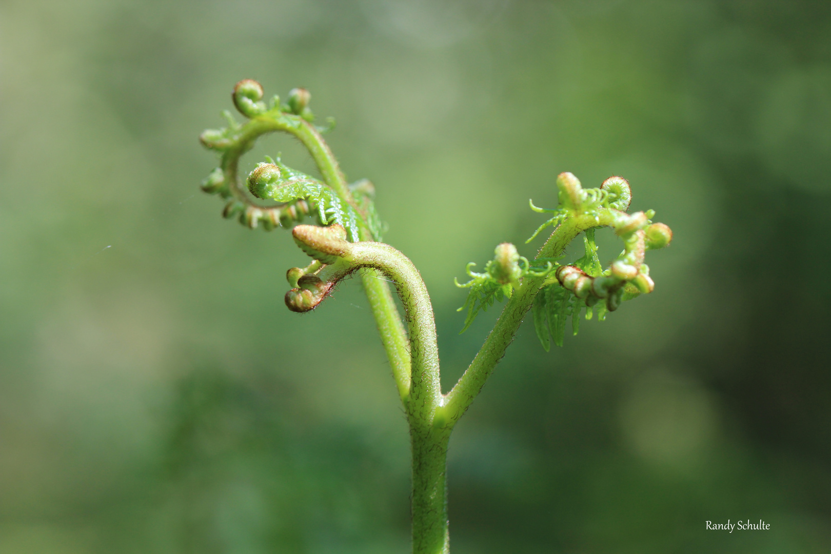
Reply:
M354 205L346 179L322 136L311 125L302 125L301 129L296 136L312 154L324 181ZM369 234L366 226L361 226L361 240L368 240ZM371 262L373 266L361 271L361 280L410 425L413 552L448 554L445 475L450 429L434 429L432 425L435 409L441 401L433 307L424 281L412 262L395 248L381 246L384 248L377 252L357 243L353 257L356 262ZM390 288L376 267L396 282L401 302L406 306L409 348Z

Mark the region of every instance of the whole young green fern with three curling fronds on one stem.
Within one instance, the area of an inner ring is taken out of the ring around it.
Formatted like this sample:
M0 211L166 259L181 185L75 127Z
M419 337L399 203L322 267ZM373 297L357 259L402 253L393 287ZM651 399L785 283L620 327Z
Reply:
M587 309L586 318L591 319L593 306L597 306L602 320L623 300L652 291L654 283L644 253L666 246L672 233L666 225L650 221L652 211L626 213L632 194L625 179L611 177L598 189L583 189L573 174L560 174L558 207L543 209L531 204L535 211L550 217L534 236L548 225L554 227L537 257L529 262L513 244L502 243L484 272L473 272L475 264L469 263L470 281L456 282L458 287L470 289L459 309L467 310L462 332L479 311L505 297L509 301L479 354L445 395L435 316L425 283L402 252L375 242L385 231L373 203L375 189L366 180L347 184L322 139L321 133L327 129L312 125L309 92L293 89L285 104L278 96L267 101L257 81L243 79L234 86L233 100L248 120L240 125L228 113L226 128L200 135L202 144L220 157L219 168L205 179L203 190L229 201L225 217L238 215L250 228L292 228L294 243L313 261L307 267L288 270L291 289L284 297L288 309L312 311L338 282L355 272L360 275L411 430L413 552L448 552L447 441L514 340L524 316L533 308L537 334L546 351L552 338L563 346L569 318L576 335L583 308ZM269 158L249 174L246 184L240 182L240 157L253 149L259 137L276 131L293 135L306 147L321 181ZM276 202L265 206L257 199ZM302 224L308 215L317 216L317 225ZM611 227L625 247L606 271L594 242L594 228L604 226ZM568 244L583 232L583 257L560 265L558 260ZM396 286L406 321L401 321L387 282ZM327 343L334 348L327 336L318 335L312 337L317 350L326 350Z

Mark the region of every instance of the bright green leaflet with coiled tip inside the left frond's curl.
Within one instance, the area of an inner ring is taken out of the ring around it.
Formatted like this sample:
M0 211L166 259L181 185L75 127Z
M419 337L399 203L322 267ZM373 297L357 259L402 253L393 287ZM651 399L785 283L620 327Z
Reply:
M355 209L348 203L343 202L335 191L317 179L289 168L282 164L279 159L276 161L270 158L267 159L269 163L280 169L280 177L276 182L276 186L268 189L268 194L261 193L262 198L278 202L306 200L312 204L312 210L317 209L317 217L323 225L332 223L342 225L347 230L347 235L353 243L360 240L358 235L360 214L356 213Z

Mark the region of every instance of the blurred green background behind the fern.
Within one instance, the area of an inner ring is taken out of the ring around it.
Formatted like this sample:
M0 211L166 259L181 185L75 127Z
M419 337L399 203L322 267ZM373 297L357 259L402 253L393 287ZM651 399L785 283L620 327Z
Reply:
M827 2L4 0L0 552L408 552L366 300L199 192L244 77L312 91L435 302L568 170L632 183L656 291L545 353L526 321L450 444L454 552L831 552ZM244 159L283 152L273 136ZM606 234L602 260L619 244ZM765 532L707 532L759 519Z

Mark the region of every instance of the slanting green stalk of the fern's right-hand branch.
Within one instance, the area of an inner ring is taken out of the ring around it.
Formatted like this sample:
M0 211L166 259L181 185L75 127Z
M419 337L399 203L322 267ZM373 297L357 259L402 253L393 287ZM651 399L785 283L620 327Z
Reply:
M543 247L539 249L537 257L559 257L568 243L571 243L582 231L612 223L614 217L612 209L601 208L597 210L597 213L597 218L587 214L578 214L560 223ZM438 410L436 419L445 419L447 425L452 427L465 414L470 404L479 395L479 391L482 390L484 382L494 372L499 360L502 360L505 350L514 341L519 324L528 313L534 297L546 278L524 277L522 285L514 291L508 303L505 304L493 331L490 331L464 375L445 395L444 405Z

